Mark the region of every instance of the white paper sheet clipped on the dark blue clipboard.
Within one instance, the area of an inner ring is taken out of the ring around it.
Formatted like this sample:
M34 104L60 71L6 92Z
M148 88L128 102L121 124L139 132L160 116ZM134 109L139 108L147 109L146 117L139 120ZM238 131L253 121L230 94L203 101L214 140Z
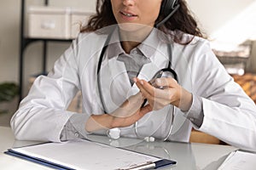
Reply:
M160 160L154 156L87 140L38 144L12 150L74 169L113 170Z

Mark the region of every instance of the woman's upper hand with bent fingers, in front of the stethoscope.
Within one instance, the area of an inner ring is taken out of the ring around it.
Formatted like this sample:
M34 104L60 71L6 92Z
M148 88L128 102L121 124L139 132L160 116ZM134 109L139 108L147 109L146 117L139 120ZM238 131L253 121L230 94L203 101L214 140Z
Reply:
M148 99L154 111L158 111L166 105L175 105L182 111L189 111L192 104L192 94L182 88L172 77L161 77L155 80L154 88L149 82L134 78L137 87L143 97ZM163 88L160 88L163 87Z

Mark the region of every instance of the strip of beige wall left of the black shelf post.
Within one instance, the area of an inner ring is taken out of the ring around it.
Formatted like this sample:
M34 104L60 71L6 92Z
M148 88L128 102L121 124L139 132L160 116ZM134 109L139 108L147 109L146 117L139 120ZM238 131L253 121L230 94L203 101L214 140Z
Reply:
M19 0L0 1L0 82L18 78L19 12Z

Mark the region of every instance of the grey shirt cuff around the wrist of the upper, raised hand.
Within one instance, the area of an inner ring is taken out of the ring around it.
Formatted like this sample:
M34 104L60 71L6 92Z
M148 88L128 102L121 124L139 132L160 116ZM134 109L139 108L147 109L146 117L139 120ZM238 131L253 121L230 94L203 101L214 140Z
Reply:
M184 112L185 116L189 119L190 122L192 122L195 127L201 127L201 124L203 122L203 110L202 110L202 99L201 97L192 94L193 100L192 105L189 109L189 111Z

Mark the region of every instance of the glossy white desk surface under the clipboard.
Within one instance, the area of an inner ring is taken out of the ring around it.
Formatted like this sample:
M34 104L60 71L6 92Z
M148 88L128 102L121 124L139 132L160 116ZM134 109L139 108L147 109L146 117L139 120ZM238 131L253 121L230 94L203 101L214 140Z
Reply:
M14 156L3 154L3 151L20 145L35 144L35 142L17 141L10 127L0 127L0 167L3 170L10 169L49 169L25 161ZM110 140L102 136L91 136L90 139L101 141L106 144L123 146L129 150L136 150L149 155L160 156L177 161L174 167L166 167L162 169L172 170L189 170L204 169L213 170L224 161L225 157L236 148L228 145L218 144L185 144L174 142L142 142L138 139L119 139Z

